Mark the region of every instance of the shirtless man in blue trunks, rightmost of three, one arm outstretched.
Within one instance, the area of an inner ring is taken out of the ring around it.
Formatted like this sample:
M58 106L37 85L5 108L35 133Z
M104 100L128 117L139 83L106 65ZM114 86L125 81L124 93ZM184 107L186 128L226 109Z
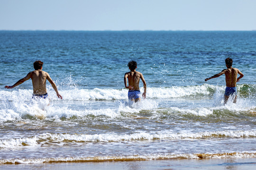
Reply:
M228 102L229 100L229 95L235 95L234 98L234 103L237 102L237 82L244 76L243 73L241 73L238 68L232 68L232 63L233 60L230 58L225 59L226 62L226 67L227 69L223 69L220 73L211 76L210 78L206 78L205 81L210 80L211 78L216 78L218 76L221 76L225 74L226 76L226 91L224 94L224 105ZM238 74L240 75L238 77Z

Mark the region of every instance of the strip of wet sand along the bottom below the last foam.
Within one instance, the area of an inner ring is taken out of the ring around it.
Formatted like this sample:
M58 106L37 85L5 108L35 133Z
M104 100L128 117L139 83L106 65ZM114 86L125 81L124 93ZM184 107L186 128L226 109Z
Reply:
M253 170L256 158L67 162L0 165L1 170Z

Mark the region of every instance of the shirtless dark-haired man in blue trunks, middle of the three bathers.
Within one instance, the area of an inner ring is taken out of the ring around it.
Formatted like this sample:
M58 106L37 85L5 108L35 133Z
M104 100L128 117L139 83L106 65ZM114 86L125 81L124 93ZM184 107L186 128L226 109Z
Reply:
M130 69L130 72L125 73L124 76L124 83L125 88L128 88L128 99L134 102L140 101L140 91L139 91L139 79L142 80L144 85L144 93L142 94L142 97L146 98L146 81L143 77L143 75L136 71L137 68L137 62L136 61L130 61L128 63L128 67ZM129 85L127 86L127 78Z

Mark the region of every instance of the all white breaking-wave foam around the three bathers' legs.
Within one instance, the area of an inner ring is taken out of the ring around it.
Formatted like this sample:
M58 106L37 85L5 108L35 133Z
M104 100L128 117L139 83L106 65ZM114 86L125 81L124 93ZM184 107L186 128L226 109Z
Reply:
M212 106L195 106L194 108L184 107L167 107L166 109L174 110L179 114L193 114L197 116L208 116L213 114L214 110L230 110L239 114L241 111L255 110L255 106L248 104L246 99L238 99L237 104L228 102L227 105L223 106L223 93L221 92L222 87L213 85L201 85L201 86L189 86L189 87L168 87L168 88L148 88L147 99L141 100L141 102L133 103L128 101L127 93L128 90L116 90L116 89L73 89L62 91L63 100L60 100L55 95L55 92L49 92L51 98L51 104L48 106L48 100L32 100L32 90L14 90L0 91L0 122L12 121L16 119L24 119L24 116L30 115L37 119L61 119L84 117L88 115L93 116L106 116L115 118L122 113L139 113L141 110L155 111L158 108L158 103L161 99L172 98L184 95L193 95L200 93L210 93L208 88L216 89L214 93L214 101ZM141 89L143 90L143 88ZM224 90L224 88L223 88ZM155 100L153 98L158 98ZM109 107L101 108L99 106L90 107L91 100L117 100L110 104ZM220 101L219 101L220 100ZM221 101L222 100L222 101ZM69 107L67 103L71 104ZM219 101L219 102L216 102ZM60 104L53 104L60 103ZM78 105L72 102L79 102ZM216 104L217 103L217 104ZM84 107L86 106L86 107ZM88 106L88 107L87 107ZM74 109L75 108L75 109ZM225 112L223 112L225 114ZM155 113L155 116L158 114Z

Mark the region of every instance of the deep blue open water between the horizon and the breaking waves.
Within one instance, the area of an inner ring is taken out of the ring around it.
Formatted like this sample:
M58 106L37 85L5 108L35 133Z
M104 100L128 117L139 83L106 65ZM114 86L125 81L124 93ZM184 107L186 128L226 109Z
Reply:
M59 82L71 76L86 88L121 88L133 59L150 86L201 85L231 57L243 82L255 84L256 32L1 31L0 45L0 82L15 81L40 59Z

